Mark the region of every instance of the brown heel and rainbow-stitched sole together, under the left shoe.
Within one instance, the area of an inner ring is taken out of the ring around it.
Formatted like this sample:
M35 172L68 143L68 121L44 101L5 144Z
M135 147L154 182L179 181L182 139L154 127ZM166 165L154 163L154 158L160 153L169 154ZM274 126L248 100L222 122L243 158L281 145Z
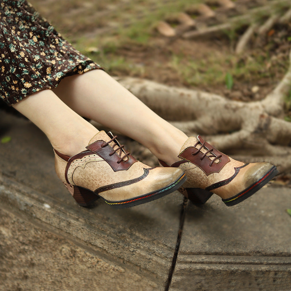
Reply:
M105 200L102 196L99 196L98 194L88 189L85 189L79 186L74 186L68 183L64 183L64 184L67 187L70 194L73 196L73 198L76 200L76 202L80 206L89 206L91 203L93 203L95 200L101 197L105 200L107 204L109 204L110 206L114 208L128 208L128 207L136 206L136 205L143 204L146 202L150 202L152 200L155 200L167 194L170 194L171 192L177 190L186 180L187 180L186 175L182 174L175 182L168 185L167 187L161 188L157 191L147 193L143 196L137 196L128 200L120 200L120 201Z

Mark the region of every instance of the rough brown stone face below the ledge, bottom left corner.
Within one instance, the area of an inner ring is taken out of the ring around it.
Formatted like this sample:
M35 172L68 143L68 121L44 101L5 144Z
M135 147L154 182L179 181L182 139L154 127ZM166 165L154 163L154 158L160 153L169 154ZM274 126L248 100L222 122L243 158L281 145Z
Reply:
M92 246L2 207L0 291L157 290L130 266L102 259Z

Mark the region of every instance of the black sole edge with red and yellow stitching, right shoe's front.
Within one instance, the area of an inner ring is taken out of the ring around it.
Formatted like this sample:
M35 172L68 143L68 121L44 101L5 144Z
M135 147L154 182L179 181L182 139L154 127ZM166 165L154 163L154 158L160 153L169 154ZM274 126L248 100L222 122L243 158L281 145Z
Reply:
M227 206L236 205L236 204L242 202L243 200L245 200L246 198L249 198L251 195L253 195L255 192L257 192L259 189L261 189L265 184L267 184L267 182L272 180L278 173L279 173L279 171L277 170L277 168L275 166L273 166L270 169L270 171L267 174L265 174L264 177L262 177L260 180L258 180L254 184L252 184L250 187L244 189L244 191L240 192L239 194L237 194L235 196L232 196L232 197L227 198L227 199L222 199L222 201Z

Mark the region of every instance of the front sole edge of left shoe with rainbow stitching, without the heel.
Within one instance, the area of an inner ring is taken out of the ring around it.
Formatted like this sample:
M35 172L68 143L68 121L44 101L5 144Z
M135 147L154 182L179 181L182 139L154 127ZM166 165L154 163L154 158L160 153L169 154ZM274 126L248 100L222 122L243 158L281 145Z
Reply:
M146 202L150 202L152 200L161 198L167 194L172 193L173 191L177 190L184 182L187 180L187 177L185 174L182 174L180 178L178 178L175 182L168 185L167 187L161 188L157 191L147 193L143 196L137 196L133 197L132 199L128 200L120 200L120 201L108 201L105 200L107 204L114 208L128 208L136 205L140 205Z

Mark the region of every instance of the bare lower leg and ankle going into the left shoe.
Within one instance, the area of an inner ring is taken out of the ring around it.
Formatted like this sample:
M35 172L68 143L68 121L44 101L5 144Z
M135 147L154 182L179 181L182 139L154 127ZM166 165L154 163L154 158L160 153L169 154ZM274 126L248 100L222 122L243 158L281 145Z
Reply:
M64 155L73 156L84 150L98 132L51 90L34 93L13 107L38 126Z

